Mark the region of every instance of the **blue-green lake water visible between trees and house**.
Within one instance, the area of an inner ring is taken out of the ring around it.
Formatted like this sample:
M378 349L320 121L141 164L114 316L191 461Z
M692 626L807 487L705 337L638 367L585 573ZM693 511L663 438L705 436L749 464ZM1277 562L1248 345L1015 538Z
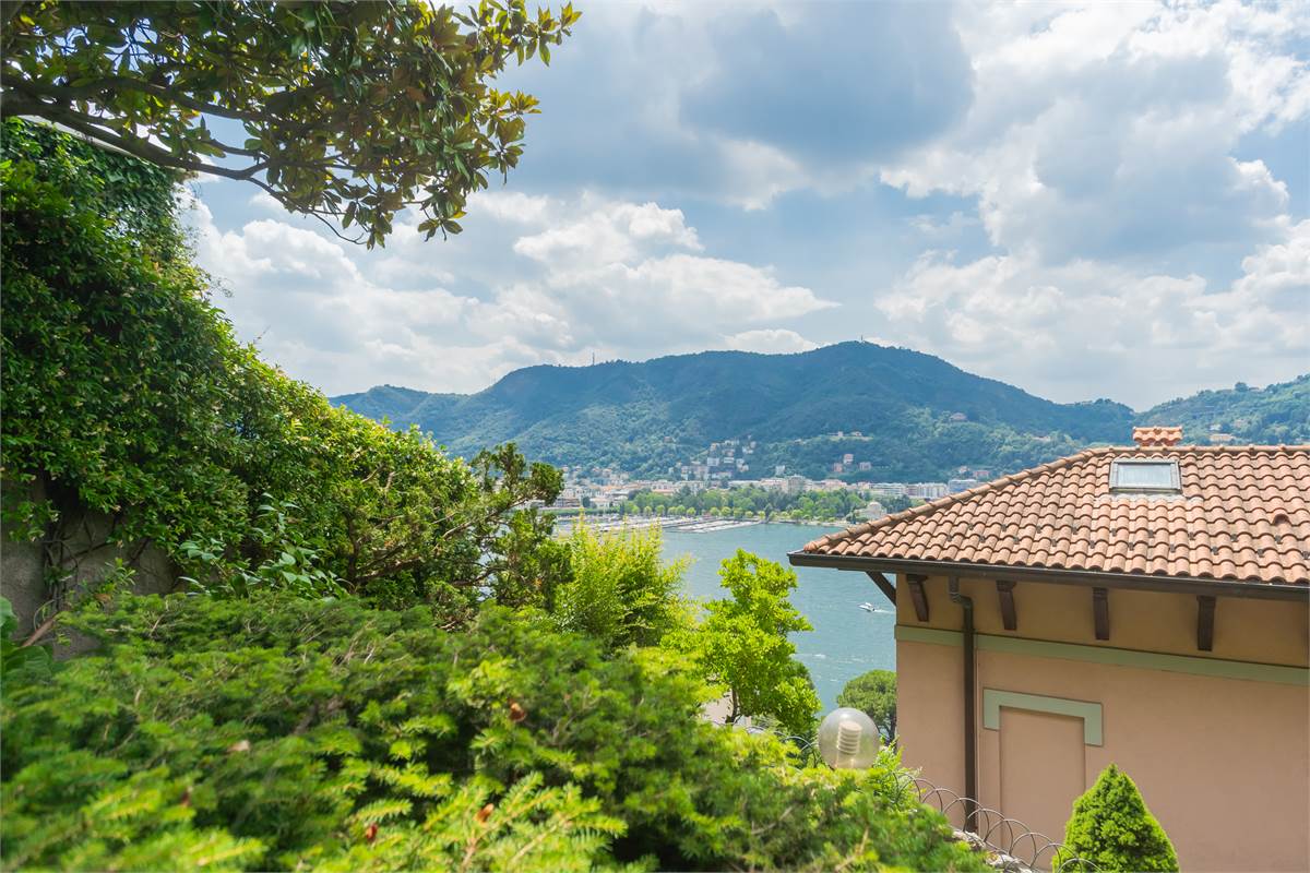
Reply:
M688 593L697 599L719 599L727 592L719 586L719 563L738 548L787 565L787 552L834 527L807 525L753 525L705 534L664 531L664 558L686 556ZM837 705L841 688L861 673L896 669L896 641L892 636L896 614L878 586L863 573L815 567L794 567L798 586L791 602L814 631L794 633L796 658L814 677L823 711ZM878 611L866 613L861 603Z

